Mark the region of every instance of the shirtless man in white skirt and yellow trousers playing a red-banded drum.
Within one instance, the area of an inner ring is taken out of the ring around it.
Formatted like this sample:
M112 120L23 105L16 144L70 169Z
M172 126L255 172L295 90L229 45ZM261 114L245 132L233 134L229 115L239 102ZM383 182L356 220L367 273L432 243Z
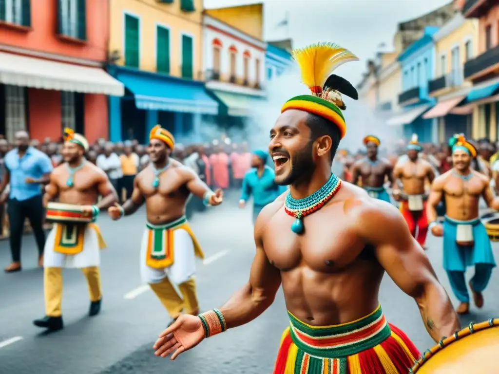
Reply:
M89 216L92 222L105 208L118 200L116 190L106 174L84 158L87 140L70 129L64 130L62 156L64 163L54 169L45 187L43 205L58 197L59 203L68 204L64 212L80 217ZM97 197L102 199L97 203ZM73 210L74 209L74 210ZM61 211L61 216L64 215ZM73 239L74 238L74 239ZM105 247L100 230L95 223L65 221L61 217L48 234L43 258L43 283L45 317L33 321L35 326L48 330L63 327L61 314L62 268L79 268L85 275L90 294L89 316L99 313L102 301L100 286L99 249Z

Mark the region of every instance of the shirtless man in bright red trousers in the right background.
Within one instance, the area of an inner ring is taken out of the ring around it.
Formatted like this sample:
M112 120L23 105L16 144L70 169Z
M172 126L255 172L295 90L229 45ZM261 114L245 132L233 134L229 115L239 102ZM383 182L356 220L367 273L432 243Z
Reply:
M426 217L425 183L435 179L432 165L418 157L422 147L418 144L418 137L413 135L407 145L407 160L397 163L393 170L393 198L400 201L400 211L404 216L409 231L418 243L425 247L428 233L428 219ZM402 192L399 189L402 184Z

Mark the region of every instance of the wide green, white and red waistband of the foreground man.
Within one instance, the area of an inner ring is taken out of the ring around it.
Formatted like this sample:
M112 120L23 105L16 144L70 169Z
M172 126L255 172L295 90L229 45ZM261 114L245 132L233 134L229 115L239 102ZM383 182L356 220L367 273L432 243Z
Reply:
M377 346L391 335L381 305L364 318L334 326L310 326L290 312L288 315L293 343L307 354L322 358L355 355Z

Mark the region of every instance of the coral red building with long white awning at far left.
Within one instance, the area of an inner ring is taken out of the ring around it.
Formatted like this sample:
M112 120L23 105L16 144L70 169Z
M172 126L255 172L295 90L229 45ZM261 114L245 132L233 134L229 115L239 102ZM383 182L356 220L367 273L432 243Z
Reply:
M107 95L124 93L103 69L108 23L105 0L0 1L0 134L108 138Z

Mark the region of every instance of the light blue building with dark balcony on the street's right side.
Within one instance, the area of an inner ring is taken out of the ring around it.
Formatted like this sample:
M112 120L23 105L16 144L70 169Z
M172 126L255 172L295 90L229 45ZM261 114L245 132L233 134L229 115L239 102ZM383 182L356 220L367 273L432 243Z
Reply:
M417 134L420 142L436 142L438 125L436 119L425 119L423 114L435 105L429 96L428 82L435 75L435 43L433 34L436 26L427 26L423 36L407 47L398 57L402 76L402 92L398 102L403 113L391 118L389 125L401 125L408 139Z

